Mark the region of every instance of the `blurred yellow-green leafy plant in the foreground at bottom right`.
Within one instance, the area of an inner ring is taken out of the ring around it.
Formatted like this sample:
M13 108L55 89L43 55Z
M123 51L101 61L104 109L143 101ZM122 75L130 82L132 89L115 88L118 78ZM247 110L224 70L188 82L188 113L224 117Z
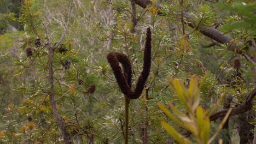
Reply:
M211 143L214 138L217 136L219 131L222 129L226 119L231 112L229 109L228 113L224 117L222 123L219 125L218 130L214 135L209 139L210 136L210 115L213 112L208 112L207 110L203 110L201 106L199 106L200 102L200 92L197 82L197 77L193 75L191 77L189 88L186 88L183 81L180 79L171 80L172 82L172 90L179 97L179 100L184 105L187 113L181 112L177 110L172 103L169 103L169 106L172 112L179 118L175 117L170 111L168 111L167 107L158 103L159 108L165 112L165 114L172 119L176 124L181 126L183 129L190 131L194 135L194 140L197 143ZM164 127L167 132L173 136L173 138L178 143L193 143L191 140L183 137L178 133L171 125L166 122L161 122L162 127Z

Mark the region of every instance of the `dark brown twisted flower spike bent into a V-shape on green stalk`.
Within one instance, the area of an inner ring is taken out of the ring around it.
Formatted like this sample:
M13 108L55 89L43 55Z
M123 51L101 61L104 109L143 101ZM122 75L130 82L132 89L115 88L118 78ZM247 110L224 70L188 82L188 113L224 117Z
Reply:
M141 95L144 85L148 79L149 70L151 66L151 31L150 28L147 29L147 37L146 44L144 49L144 57L143 57L143 69L141 75L138 78L138 83L136 85L135 91L131 89L131 77L132 77L132 68L130 59L119 52L110 52L108 53L107 59L110 64L115 79L117 80L118 86L124 95L130 99L137 99ZM121 63L123 70L119 66Z

